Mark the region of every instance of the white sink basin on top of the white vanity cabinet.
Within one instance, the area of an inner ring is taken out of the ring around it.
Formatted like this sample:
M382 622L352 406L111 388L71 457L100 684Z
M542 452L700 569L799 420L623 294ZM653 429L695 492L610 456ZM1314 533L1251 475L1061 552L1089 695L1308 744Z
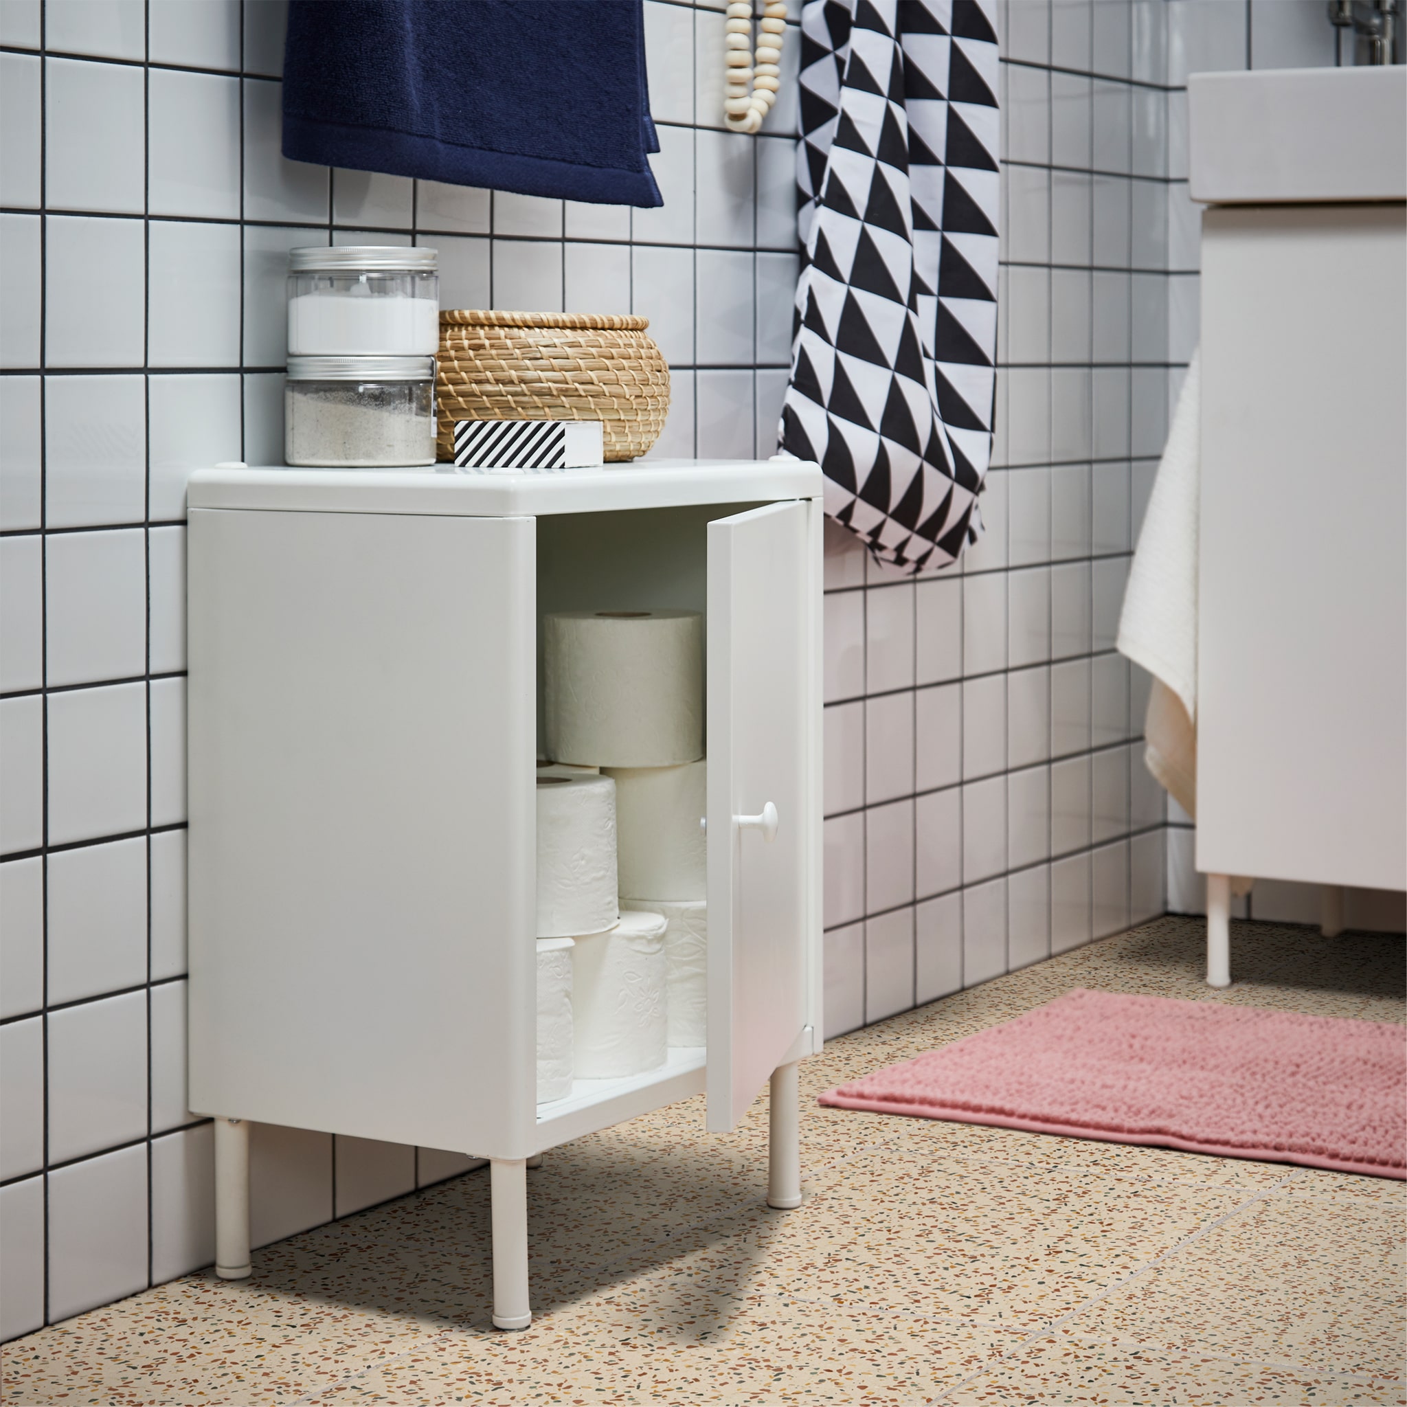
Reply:
M1261 69L1188 80L1193 200L1407 200L1407 68Z

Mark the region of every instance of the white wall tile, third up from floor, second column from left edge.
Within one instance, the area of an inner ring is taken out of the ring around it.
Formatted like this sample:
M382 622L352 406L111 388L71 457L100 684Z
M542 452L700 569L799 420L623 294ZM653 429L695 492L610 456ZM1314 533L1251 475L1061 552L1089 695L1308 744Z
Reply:
M49 1002L146 981L146 839L49 855Z

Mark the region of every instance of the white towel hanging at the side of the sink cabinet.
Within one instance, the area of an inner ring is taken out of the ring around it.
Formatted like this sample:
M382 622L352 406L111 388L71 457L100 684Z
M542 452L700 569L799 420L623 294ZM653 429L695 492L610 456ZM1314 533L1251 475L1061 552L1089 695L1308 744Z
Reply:
M1197 813L1197 508L1202 362L1195 352L1158 464L1128 590L1119 651L1152 675L1144 758L1189 815Z

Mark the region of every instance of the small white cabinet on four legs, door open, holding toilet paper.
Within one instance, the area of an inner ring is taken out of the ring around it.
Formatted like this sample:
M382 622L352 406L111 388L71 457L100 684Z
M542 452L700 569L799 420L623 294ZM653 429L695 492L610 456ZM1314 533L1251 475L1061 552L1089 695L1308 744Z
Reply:
M491 1159L494 1324L525 1328L526 1164L771 1081L801 1202L820 1050L822 478L219 467L190 481L190 1103L217 1271L249 1273L248 1120ZM706 613L708 1047L535 1090L542 618ZM623 1190L622 1195L629 1195Z

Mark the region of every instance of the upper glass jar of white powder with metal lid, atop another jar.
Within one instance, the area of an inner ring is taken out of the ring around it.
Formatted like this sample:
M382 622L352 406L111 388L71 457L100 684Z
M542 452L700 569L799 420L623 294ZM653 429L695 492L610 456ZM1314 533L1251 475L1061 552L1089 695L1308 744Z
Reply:
M435 356L438 270L435 249L290 249L288 356Z

